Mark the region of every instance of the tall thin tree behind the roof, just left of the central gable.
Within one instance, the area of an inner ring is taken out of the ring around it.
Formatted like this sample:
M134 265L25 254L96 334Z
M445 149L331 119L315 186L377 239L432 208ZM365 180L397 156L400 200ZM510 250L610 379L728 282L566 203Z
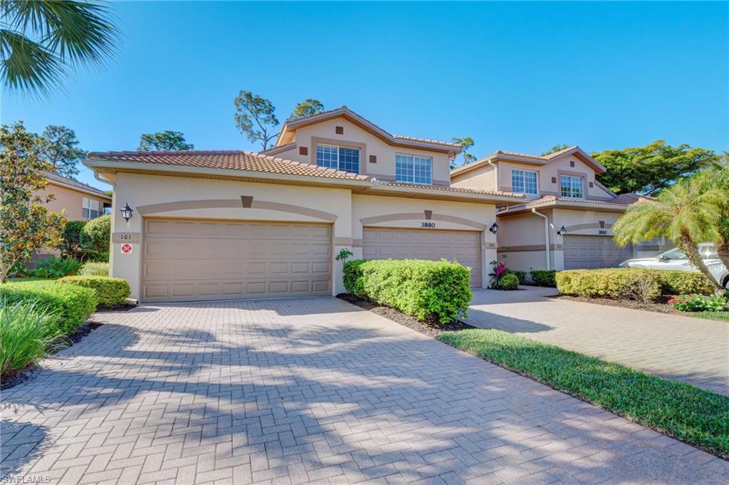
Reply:
M260 141L262 150L278 136L276 108L268 99L250 91L241 90L233 101L235 104L235 125L250 141Z

